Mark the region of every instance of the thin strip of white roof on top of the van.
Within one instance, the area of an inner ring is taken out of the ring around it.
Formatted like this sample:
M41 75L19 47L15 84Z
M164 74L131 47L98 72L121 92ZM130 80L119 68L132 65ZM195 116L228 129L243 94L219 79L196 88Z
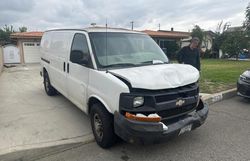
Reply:
M134 31L134 30L129 30L129 29L124 29L124 28L111 28L111 27L88 27L88 28L82 28L82 29L53 29L53 30L48 30L48 31L86 31L86 32L124 32L124 33L140 33L140 34L145 34L143 32L139 31ZM48 32L46 31L46 32Z

